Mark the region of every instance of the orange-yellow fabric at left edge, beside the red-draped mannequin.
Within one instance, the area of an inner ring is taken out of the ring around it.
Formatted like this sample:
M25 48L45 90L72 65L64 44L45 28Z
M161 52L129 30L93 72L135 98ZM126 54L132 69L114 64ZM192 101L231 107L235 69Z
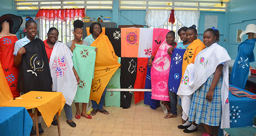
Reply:
M5 78L4 71L0 62L0 103L13 99L12 92Z

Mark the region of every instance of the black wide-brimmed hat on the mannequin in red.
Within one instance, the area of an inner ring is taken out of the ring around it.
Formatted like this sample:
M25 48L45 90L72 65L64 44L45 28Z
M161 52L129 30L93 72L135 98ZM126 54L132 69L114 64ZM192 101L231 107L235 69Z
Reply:
M2 23L7 21L9 23L9 33L15 34L18 32L23 19L21 16L16 16L14 14L5 14L0 17L0 32L2 31Z

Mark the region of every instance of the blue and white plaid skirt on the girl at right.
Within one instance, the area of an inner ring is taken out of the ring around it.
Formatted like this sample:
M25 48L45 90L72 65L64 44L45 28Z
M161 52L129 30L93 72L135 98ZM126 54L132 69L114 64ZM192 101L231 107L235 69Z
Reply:
M192 94L190 103L189 121L195 121L196 124L204 123L209 126L219 126L221 120L221 86L222 76L213 91L213 100L208 102L206 94L208 93L213 81L214 73L206 82Z

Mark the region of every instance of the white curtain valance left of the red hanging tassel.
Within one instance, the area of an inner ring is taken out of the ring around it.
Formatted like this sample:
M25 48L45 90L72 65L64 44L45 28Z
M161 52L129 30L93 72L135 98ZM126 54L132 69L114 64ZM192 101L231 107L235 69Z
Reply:
M163 26L169 19L171 10L155 10L147 9L145 22L149 26L160 27Z

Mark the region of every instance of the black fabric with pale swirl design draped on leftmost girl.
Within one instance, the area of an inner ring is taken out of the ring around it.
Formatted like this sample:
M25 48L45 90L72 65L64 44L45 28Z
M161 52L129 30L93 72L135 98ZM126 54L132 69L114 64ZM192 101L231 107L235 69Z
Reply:
M24 94L29 91L52 91L52 77L45 52L45 44L36 38L24 46L19 67L17 87Z

